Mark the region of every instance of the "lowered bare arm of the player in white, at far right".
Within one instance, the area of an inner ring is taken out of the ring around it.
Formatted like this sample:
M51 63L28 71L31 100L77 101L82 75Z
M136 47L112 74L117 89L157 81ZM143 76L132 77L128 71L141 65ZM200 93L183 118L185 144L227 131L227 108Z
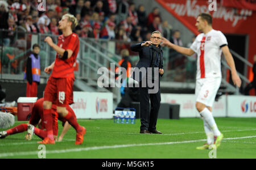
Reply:
M233 80L234 85L241 87L241 79L237 74L236 65L234 63L232 54L229 51L228 45L223 46L221 48L221 50L225 56L226 62L228 63L228 65L231 69L231 75L232 75L232 80Z

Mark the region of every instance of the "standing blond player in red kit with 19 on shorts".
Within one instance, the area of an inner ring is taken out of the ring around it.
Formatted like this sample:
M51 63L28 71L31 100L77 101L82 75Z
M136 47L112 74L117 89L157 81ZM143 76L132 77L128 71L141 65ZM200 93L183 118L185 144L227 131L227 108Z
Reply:
M44 121L46 121L47 137L40 143L55 144L52 131L51 106L57 102L57 113L64 117L69 124L76 129L76 145L81 145L84 141L86 129L77 123L76 117L66 109L66 105L73 103L73 82L75 80L73 64L79 52L79 37L72 32L77 25L77 19L71 14L65 14L59 22L59 29L63 35L59 36L57 45L53 43L51 37L46 37L45 41L57 53L55 62L46 67L44 71L52 74L47 82L44 91Z

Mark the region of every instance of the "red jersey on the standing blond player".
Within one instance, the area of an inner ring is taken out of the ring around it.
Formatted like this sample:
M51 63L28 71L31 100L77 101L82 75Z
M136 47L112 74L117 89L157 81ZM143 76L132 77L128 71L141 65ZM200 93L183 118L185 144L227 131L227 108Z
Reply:
M76 62L77 53L79 52L79 37L76 33L64 37L63 35L58 37L57 46L65 50L72 50L73 54L68 59L59 58L59 54L56 54L55 65L52 71L53 78L74 78L73 65Z

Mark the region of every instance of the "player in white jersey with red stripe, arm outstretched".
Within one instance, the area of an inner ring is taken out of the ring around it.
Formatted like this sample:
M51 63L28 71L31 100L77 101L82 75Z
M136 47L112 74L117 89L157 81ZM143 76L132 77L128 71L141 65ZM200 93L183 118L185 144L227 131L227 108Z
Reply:
M207 13L200 14L196 19L196 27L202 33L196 37L190 48L172 44L164 38L162 45L187 56L197 54L196 109L204 120L204 130L207 135L207 143L197 149L204 150L210 145L219 147L223 139L223 134L218 130L212 116L212 106L221 84L222 52L231 69L233 83L240 87L241 79L237 74L232 54L229 52L226 37L221 31L212 28L212 16Z

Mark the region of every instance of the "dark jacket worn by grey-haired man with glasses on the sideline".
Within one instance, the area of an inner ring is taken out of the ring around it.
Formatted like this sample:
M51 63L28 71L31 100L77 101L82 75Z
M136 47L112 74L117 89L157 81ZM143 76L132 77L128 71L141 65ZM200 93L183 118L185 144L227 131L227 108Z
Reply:
M153 57L153 50L151 46L141 46L143 42L138 43L138 44L133 44L131 45L131 50L134 52L139 52L139 62L137 63L137 65L135 67L138 67L138 69L141 69L142 67L144 67L147 71L147 68L150 67L151 64L151 60ZM160 46L161 49L161 53L160 53L160 68L159 69L163 69L163 51L162 51L162 47ZM163 76L163 74L159 74L160 76ZM142 75L140 73L139 75L139 79L135 79L135 75L133 72L132 78L137 80L138 82L141 82L141 80L144 78L145 75Z

